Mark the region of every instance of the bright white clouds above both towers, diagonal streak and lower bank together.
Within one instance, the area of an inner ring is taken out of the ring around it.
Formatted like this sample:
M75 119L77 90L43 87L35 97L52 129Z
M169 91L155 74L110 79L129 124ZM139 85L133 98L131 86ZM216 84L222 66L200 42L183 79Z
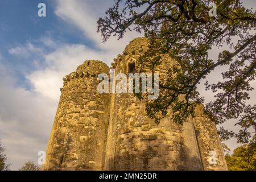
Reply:
M106 6L102 6L102 3ZM128 32L124 39L117 41L116 38L112 38L107 43L102 43L100 34L96 34L97 19L104 15L105 8L109 5L110 2L105 1L56 0L55 14L71 26L80 28L86 39L92 40L98 49L91 49L83 44L56 43L49 37L41 38L40 42L44 46L56 49L43 55L47 64L45 69L39 69L27 76L35 92L52 100L59 100L59 89L65 75L75 71L84 60L101 60L110 65L114 57L122 53L130 40L139 36L137 33ZM97 7L97 10L92 7Z

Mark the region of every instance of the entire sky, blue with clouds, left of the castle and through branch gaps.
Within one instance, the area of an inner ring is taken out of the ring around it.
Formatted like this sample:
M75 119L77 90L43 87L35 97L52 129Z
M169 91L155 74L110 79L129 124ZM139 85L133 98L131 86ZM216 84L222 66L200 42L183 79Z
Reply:
M46 3L46 17L38 16L40 2ZM245 2L256 7L255 0ZM131 39L142 36L127 32L120 41L102 44L96 22L112 5L112 0L0 1L0 138L11 169L36 162L38 151L46 150L62 78L84 60L110 65Z

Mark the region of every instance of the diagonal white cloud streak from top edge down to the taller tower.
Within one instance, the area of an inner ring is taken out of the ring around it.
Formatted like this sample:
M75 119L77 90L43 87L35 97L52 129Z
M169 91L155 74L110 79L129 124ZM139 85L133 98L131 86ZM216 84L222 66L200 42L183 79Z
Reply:
M98 48L108 51L114 58L123 51L131 39L143 36L135 31L126 32L121 40L112 37L106 43L102 43L100 33L97 34L97 20L105 16L105 11L113 5L113 1L82 1L82 0L56 0L55 14L67 23L80 28L86 38L92 40ZM112 58L112 59L113 59Z

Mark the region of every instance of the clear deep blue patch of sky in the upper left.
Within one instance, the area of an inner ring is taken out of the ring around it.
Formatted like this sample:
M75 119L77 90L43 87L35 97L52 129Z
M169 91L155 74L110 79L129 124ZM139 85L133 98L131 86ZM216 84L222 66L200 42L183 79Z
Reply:
M38 4L47 4L47 17L38 17ZM15 1L2 0L0 2L0 49L1 55L6 57L2 64L15 69L15 74L19 79L19 84L23 84L29 89L29 85L24 80L24 72L31 73L36 69L36 65L31 61L31 56L36 57L36 53L27 56L17 56L10 54L10 49L24 44L31 43L35 47L43 48L44 51L53 51L52 47L43 45L40 39L52 39L68 44L84 44L91 48L96 48L95 44L86 39L82 30L75 26L67 26L67 22L55 15L54 1ZM7 11L8 10L8 11ZM44 66L42 57L39 57L40 67Z

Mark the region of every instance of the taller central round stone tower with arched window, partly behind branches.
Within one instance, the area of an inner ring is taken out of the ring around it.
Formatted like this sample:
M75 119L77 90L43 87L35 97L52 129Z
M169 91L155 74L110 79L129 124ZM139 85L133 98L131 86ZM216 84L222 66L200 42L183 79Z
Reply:
M147 46L146 38L132 40L123 55L114 59L115 74L132 73ZM155 68L159 80L170 73L174 64L171 57L163 56L162 64ZM105 169L202 170L192 119L179 126L169 113L156 124L145 109L145 103L134 94L112 94Z

